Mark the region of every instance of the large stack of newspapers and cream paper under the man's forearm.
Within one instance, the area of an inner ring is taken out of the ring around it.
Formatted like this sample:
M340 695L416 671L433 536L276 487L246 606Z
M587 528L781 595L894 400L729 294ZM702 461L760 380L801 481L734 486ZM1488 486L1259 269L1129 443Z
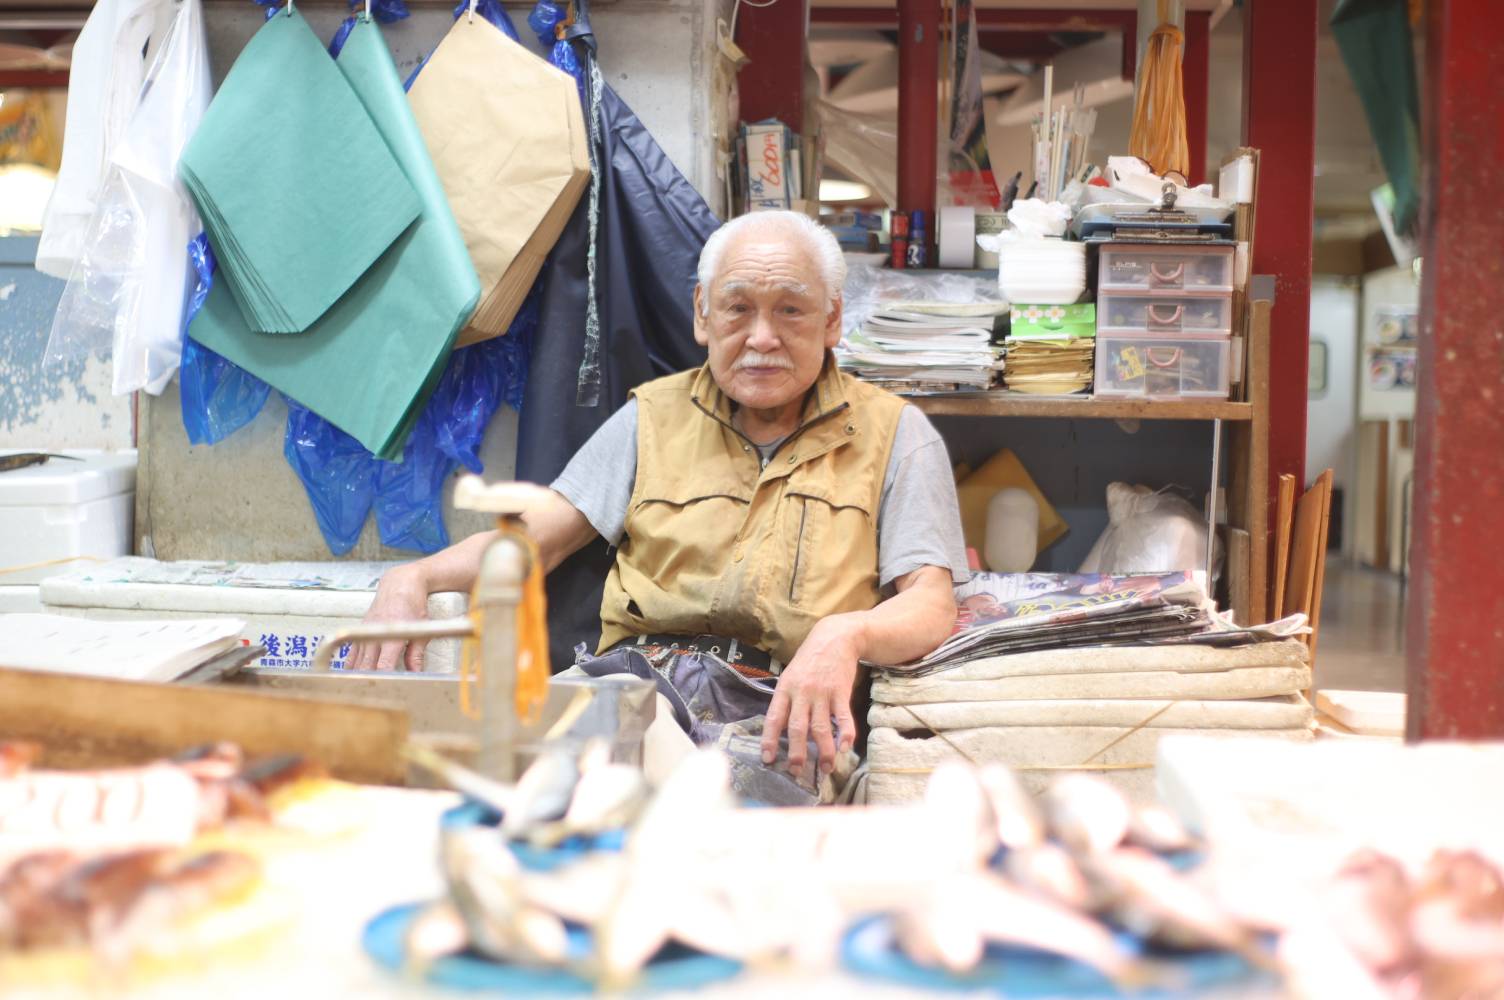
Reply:
M1035 792L1086 773L1148 802L1166 735L1311 738L1304 618L1238 629L1196 574L982 573L957 598L946 644L872 674L869 803L922 795L958 758Z

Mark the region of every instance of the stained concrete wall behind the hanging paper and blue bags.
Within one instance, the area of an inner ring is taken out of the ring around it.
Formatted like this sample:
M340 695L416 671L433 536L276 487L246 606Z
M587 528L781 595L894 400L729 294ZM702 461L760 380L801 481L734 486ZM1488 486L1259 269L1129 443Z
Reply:
M384 29L399 69L406 74L438 45L451 24L450 5L420 6L412 17ZM263 20L244 0L208 3L209 56L221 80L245 41ZM320 38L334 35L344 5L298 3ZM528 6L508 12L519 32ZM729 18L722 0L618 0L593 8L605 80L638 113L669 159L719 208L714 156L708 138L710 57L716 18ZM268 95L280 99L289 95ZM546 334L543 334L546 335ZM328 559L313 511L296 475L283 460L286 408L278 398L250 426L218 445L190 447L179 414L176 383L159 398L143 398L137 493L138 549L165 559ZM510 478L514 463L516 414L502 408L487 432L481 459L486 477ZM448 510L448 502L445 502ZM486 526L475 514L448 516L451 537ZM374 522L349 553L356 559L411 558L385 549Z

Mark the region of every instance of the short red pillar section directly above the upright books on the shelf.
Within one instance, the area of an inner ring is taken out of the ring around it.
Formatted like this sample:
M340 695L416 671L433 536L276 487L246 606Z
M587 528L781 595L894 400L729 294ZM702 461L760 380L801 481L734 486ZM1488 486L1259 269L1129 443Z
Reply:
M735 42L749 60L737 74L743 122L776 117L803 132L808 29L806 0L778 0L766 8L741 5Z

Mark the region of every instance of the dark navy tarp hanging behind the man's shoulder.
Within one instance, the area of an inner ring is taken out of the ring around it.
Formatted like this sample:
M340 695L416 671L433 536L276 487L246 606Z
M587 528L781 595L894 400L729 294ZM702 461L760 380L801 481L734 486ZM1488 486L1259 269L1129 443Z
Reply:
M588 30L585 11L572 44L587 81L593 66ZM558 56L553 60L558 63ZM599 77L596 84L599 400L578 405L590 304L587 194L550 254L517 432L517 478L543 484L626 403L632 388L705 359L693 335L695 266L720 221L632 108ZM585 119L590 125L590 107ZM576 642L594 650L600 639L600 594L611 559L605 541L597 540L549 574L555 669L573 660Z

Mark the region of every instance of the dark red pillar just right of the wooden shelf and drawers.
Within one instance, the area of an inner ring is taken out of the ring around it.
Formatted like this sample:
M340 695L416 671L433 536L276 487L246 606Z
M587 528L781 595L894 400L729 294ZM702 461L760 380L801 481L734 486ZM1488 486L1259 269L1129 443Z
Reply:
M1269 496L1281 474L1305 480L1319 8L1311 0L1248 0L1242 8L1242 138L1262 153L1253 272L1275 280Z

